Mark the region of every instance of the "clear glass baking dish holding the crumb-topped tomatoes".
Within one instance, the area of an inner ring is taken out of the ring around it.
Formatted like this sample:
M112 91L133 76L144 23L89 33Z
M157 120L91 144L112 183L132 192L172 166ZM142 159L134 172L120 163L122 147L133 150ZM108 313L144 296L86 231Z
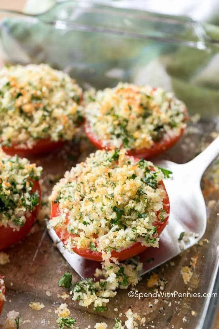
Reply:
M216 26L186 17L118 9L101 2L64 1L41 15L1 12L0 28L5 63L49 63L68 72L84 89L113 87L119 81L127 81L162 86L175 92L186 103L192 120L183 139L164 155L165 159L184 163L218 135L219 28ZM93 150L82 135L59 152L32 158L44 167L44 193L49 193L65 170ZM205 234L208 241L154 271L164 282L165 291L219 293L219 282L215 281L218 177L215 162L202 182L208 205ZM11 262L0 265L7 286L7 302L0 319L3 326L6 313L15 310L23 320L30 320L22 328L56 328L54 310L62 302L68 304L80 328L93 327L96 322L106 322L108 328L113 328L115 317L122 313L124 319L129 306L146 317L145 328L199 329L213 325L216 297L197 299L188 295L139 300L129 298L129 290L120 290L110 302L109 310L98 315L90 308L84 310L77 302L70 302L70 298L63 301L57 296L63 292L57 287L59 277L67 270L73 273L73 280L79 277L55 249L43 223L35 225L33 234L7 253ZM197 264L191 259L198 259ZM182 266L190 266L193 272L187 285L182 279ZM135 289L141 293L150 291L147 287L150 275L145 275ZM29 308L31 301L40 301L45 308L33 311Z

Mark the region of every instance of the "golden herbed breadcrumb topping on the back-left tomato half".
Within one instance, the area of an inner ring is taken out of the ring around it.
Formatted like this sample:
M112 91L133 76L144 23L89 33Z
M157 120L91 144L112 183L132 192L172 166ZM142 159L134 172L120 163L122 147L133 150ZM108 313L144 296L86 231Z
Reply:
M82 90L46 64L0 70L0 142L32 148L37 139L71 140L81 123Z

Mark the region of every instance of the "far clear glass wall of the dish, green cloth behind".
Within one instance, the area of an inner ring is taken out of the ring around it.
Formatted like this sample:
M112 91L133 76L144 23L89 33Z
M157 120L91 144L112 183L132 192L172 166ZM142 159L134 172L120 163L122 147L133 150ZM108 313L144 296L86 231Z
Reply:
M190 114L218 112L218 48L184 17L65 1L35 17L4 17L1 48L6 62L49 63L85 88L160 85L185 101Z

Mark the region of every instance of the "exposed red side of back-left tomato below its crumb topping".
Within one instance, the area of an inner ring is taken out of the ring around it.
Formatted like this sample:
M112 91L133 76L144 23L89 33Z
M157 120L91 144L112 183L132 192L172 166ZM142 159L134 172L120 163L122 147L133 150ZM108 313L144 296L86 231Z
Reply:
M63 147L65 141L58 140L53 141L49 138L47 139L38 139L33 145L33 148L20 148L19 145L13 146L2 146L3 151L9 155L17 154L19 157L29 157L32 155L37 155L41 153L49 153L57 148Z

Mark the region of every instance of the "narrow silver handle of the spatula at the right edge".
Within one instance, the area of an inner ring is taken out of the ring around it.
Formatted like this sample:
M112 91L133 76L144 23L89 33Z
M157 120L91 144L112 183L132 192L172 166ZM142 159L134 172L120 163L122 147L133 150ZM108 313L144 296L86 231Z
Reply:
M202 153L193 160L189 161L187 169L194 173L194 177L202 177L204 171L219 155L219 137L217 137Z

